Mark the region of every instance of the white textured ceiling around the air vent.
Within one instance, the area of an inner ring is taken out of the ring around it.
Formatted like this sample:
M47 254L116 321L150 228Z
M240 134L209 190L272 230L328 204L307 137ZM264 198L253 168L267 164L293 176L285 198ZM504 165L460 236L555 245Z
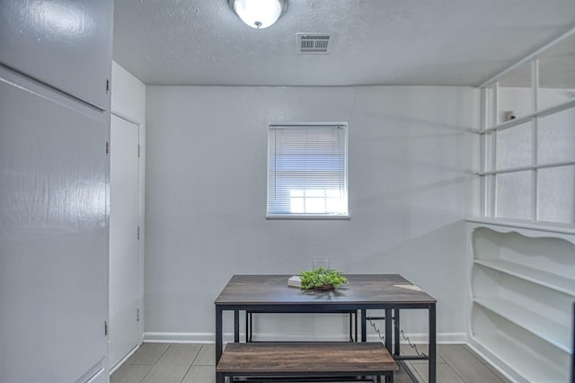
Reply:
M148 85L479 85L573 27L574 0L288 0L264 30L227 0L115 0L114 59Z

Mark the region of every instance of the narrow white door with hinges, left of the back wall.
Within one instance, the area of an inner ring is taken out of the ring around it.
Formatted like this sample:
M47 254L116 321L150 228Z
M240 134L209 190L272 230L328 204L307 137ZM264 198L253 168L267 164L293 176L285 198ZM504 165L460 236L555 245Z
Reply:
M137 125L111 116L110 366L139 342L139 158Z

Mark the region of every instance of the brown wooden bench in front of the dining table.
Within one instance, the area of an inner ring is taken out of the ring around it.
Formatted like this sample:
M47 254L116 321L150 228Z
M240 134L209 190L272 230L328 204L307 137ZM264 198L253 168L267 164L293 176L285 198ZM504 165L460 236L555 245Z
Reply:
M219 379L292 378L385 381L398 370L382 343L227 343L217 363ZM309 380L308 380L309 381Z

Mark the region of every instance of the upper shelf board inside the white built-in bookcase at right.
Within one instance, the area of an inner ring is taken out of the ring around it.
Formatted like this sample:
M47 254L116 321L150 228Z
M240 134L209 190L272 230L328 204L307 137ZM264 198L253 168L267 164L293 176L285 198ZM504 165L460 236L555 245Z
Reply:
M500 259L476 259L473 262L575 297L575 280L571 278Z

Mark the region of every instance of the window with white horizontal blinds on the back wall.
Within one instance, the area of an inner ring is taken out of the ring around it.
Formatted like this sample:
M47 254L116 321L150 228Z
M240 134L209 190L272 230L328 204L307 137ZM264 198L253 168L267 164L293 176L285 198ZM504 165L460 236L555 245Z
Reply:
M268 218L347 218L347 126L270 126Z

